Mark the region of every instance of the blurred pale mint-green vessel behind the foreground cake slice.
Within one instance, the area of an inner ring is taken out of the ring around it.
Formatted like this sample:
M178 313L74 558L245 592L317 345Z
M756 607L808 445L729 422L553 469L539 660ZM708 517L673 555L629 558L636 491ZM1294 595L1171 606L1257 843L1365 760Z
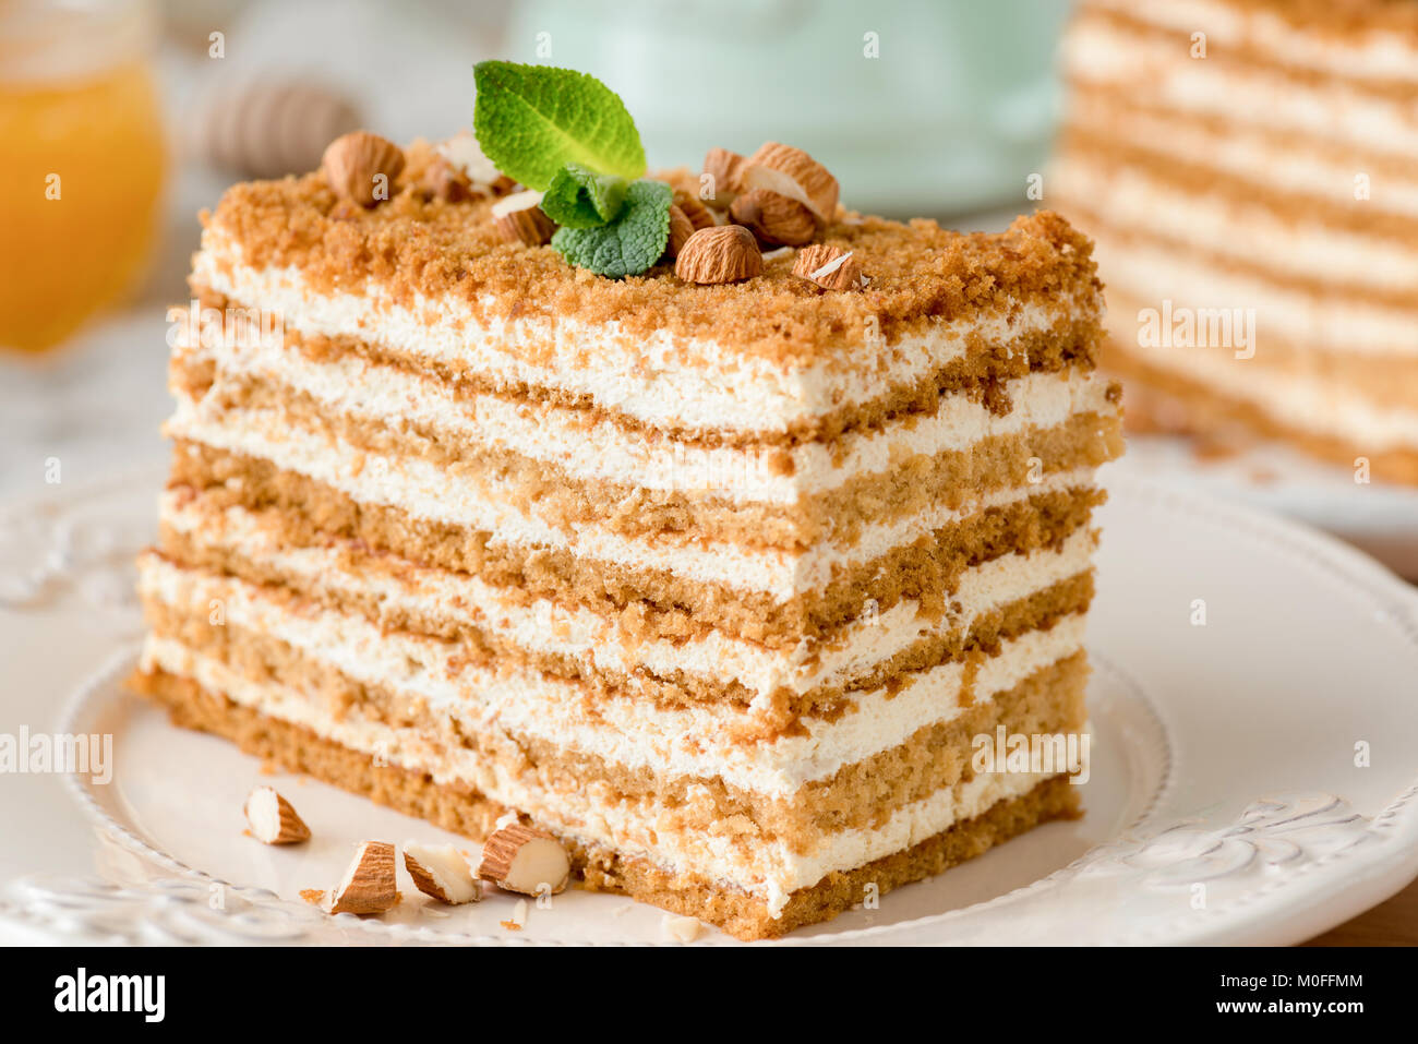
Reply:
M1029 210L1068 0L532 0L503 57L584 70L652 166L764 140L807 149L842 200L895 217Z

